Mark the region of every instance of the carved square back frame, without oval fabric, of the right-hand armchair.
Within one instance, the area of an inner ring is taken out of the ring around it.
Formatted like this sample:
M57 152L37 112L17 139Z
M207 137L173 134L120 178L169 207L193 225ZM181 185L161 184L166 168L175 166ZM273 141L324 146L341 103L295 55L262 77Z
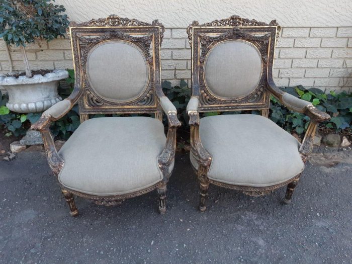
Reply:
M231 21L232 19L232 21ZM269 25L237 16L228 20L199 25L193 22L188 28L192 48L192 95L199 97L199 112L263 110L270 106L268 81L273 81L275 43L280 26L276 21ZM226 40L248 41L255 45L262 58L262 74L257 87L242 98L220 98L212 94L204 81L203 63L214 45Z

